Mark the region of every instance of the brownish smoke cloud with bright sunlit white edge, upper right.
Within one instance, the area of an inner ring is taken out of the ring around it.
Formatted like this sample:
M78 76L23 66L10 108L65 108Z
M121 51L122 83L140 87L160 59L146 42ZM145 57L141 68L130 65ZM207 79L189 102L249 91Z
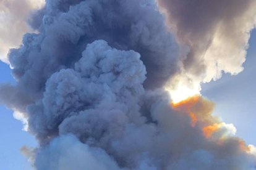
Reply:
M243 70L250 31L255 28L254 0L178 1L157 0L170 30L190 51L181 58L181 73L171 82L198 93L200 83L236 75ZM184 89L184 88L183 88ZM175 92L175 91L174 91Z

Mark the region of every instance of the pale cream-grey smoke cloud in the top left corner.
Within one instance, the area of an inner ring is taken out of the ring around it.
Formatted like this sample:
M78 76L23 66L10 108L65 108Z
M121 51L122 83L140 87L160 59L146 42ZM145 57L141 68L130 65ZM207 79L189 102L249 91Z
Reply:
M19 47L23 34L33 31L27 24L30 12L40 9L44 4L44 0L0 1L0 60L8 63L9 49Z

